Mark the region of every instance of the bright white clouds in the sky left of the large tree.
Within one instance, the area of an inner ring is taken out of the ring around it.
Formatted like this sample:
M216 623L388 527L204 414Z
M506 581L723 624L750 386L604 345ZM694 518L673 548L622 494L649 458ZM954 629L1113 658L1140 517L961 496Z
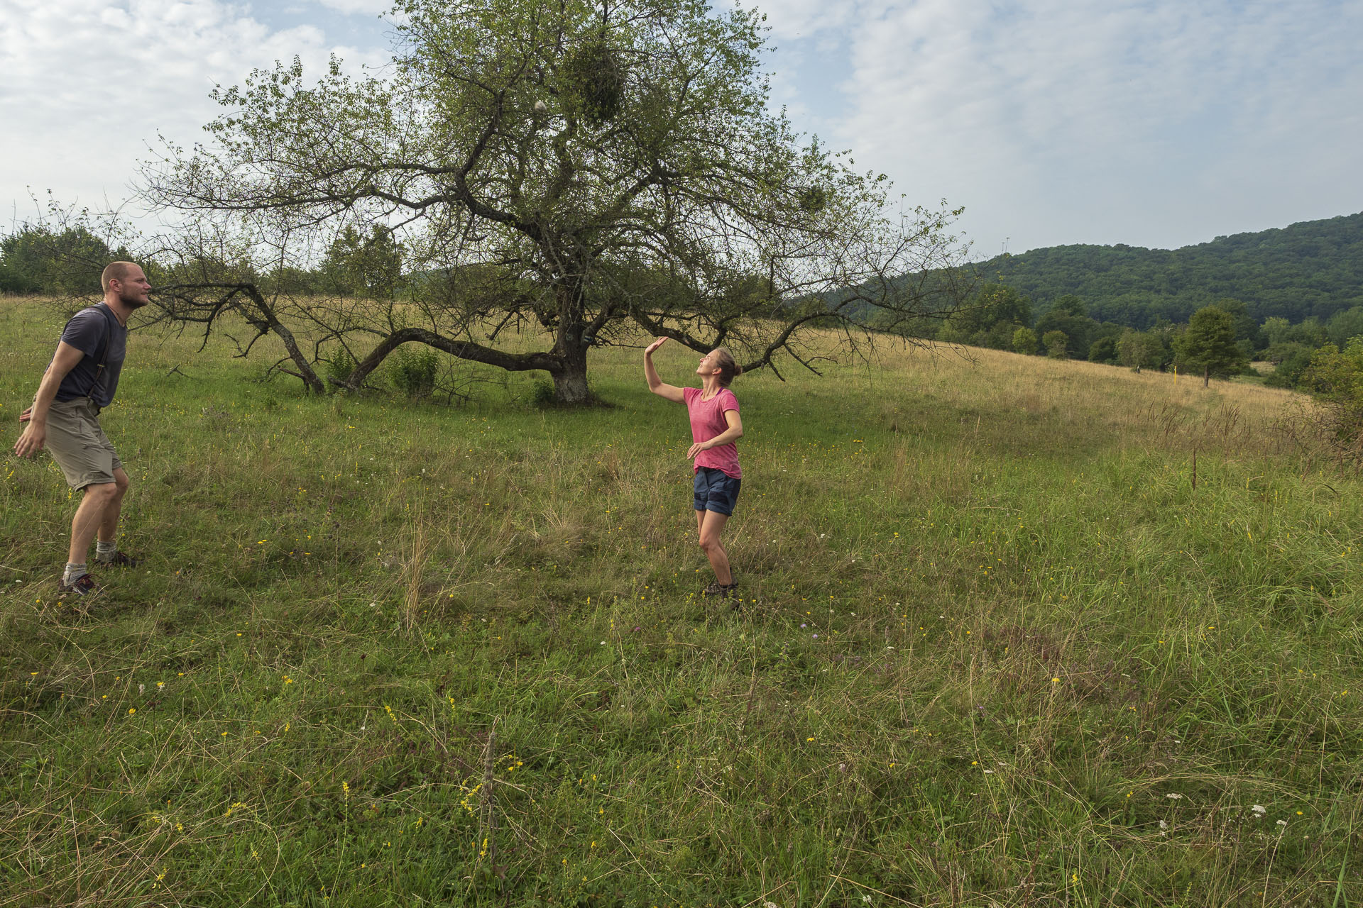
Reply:
M29 188L65 203L121 200L158 133L202 137L218 113L214 83L294 56L320 72L330 53L350 69L387 60L331 46L315 26L273 30L219 0L0 0L0 201L16 200L23 219Z

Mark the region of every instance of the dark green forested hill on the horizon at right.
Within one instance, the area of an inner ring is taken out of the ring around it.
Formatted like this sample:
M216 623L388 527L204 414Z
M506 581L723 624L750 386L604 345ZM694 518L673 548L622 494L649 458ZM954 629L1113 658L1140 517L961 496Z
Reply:
M1048 246L979 265L983 280L1017 289L1043 313L1066 294L1089 316L1133 328L1159 319L1187 321L1202 306L1234 297L1257 321L1292 323L1363 305L1363 214L1217 237L1182 249Z

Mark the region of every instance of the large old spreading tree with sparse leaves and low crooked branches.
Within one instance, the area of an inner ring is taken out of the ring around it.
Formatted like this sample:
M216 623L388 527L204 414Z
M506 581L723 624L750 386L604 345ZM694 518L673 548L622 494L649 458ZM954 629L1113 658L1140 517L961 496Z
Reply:
M590 348L638 328L726 344L751 369L808 365L810 324L953 306L925 275L954 264L954 212L887 216L885 177L767 110L756 14L402 0L394 22L382 78L256 71L217 93L207 143L149 166L147 196L185 218L165 249L169 317L211 331L244 316L318 391L327 348L346 348L341 384L358 387L416 342L548 372L582 403ZM376 227L401 240L401 293L288 291L338 237Z

